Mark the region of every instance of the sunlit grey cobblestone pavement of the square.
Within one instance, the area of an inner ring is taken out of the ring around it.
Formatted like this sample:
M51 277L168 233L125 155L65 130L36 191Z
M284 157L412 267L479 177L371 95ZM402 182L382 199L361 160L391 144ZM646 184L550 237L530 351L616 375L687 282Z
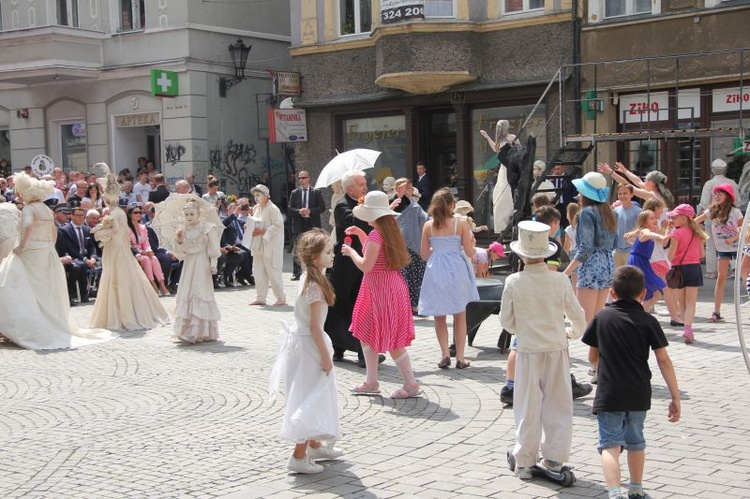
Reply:
M293 297L296 283L289 273L284 281ZM694 345L684 345L681 332L659 316L671 341L683 416L678 424L667 422L669 394L652 362L644 484L654 498L750 497L750 375L731 306L724 307L725 323L705 319L713 281L707 284ZM606 495L591 396L575 403L574 487L521 482L508 470L514 425L512 409L499 402L506 356L495 348L496 316L467 349L472 366L463 371L436 367L432 321L418 318L411 356L422 398L350 396L348 387L363 372L353 362L338 363L345 459L320 475L287 474L291 446L277 436L283 398L270 402L267 385L279 324L293 320L292 307L249 307L254 297L252 288L217 293L224 316L217 344L175 344L170 327L74 351L0 344L0 497ZM174 302L163 300L168 307ZM86 324L92 310L79 306L73 316ZM584 380L585 359L584 345L573 342L572 369ZM398 388L399 379L386 361L384 393Z

